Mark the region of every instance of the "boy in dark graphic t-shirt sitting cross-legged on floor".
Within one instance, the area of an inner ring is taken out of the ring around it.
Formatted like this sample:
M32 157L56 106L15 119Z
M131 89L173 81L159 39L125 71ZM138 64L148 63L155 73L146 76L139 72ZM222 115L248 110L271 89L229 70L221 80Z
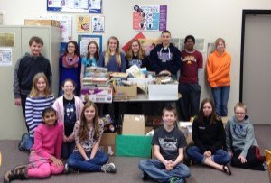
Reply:
M139 162L139 169L143 171L142 179L181 183L190 176L190 170L182 164L183 149L187 144L183 133L175 127L176 116L175 108L164 107L164 126L155 130L152 142L156 159Z

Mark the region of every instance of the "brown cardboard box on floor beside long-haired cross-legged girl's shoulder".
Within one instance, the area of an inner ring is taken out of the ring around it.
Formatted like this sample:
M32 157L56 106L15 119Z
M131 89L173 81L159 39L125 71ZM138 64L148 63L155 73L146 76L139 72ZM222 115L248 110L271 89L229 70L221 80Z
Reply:
M103 133L99 142L99 149L106 152L109 156L116 155L116 134L117 133Z

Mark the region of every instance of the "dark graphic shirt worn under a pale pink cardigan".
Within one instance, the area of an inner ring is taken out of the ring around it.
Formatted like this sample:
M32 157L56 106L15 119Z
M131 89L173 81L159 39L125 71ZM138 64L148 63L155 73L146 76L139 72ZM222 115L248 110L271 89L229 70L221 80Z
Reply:
M63 97L63 105L64 105L64 129L65 135L69 136L72 131L74 124L76 122L76 108L74 97L71 100Z

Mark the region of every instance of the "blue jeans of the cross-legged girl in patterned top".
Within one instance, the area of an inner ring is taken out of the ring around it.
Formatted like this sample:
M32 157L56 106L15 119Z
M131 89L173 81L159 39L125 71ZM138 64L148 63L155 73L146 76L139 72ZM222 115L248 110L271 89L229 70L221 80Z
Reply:
M90 153L87 153L87 156L90 157ZM106 153L102 151L97 151L95 157L90 160L85 160L79 151L73 152L67 163L70 168L78 169L79 171L87 171L87 172L97 172L101 171L101 166L106 164L108 160L108 156Z

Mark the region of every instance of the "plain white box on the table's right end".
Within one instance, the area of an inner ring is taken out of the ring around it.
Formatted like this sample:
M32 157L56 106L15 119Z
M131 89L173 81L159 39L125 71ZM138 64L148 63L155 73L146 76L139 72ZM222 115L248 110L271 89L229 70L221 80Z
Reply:
M178 100L178 84L148 85L148 95L150 100L169 101Z

